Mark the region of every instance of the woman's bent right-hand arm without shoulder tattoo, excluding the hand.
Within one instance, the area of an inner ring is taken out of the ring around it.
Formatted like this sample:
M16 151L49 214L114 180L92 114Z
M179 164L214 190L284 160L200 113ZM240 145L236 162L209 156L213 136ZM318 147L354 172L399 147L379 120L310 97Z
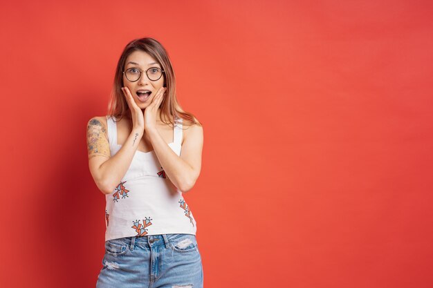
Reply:
M160 164L167 177L182 192L187 192L196 183L201 171L201 152L203 150L203 127L190 126L182 144L179 157L163 140L156 129L149 129L149 138Z

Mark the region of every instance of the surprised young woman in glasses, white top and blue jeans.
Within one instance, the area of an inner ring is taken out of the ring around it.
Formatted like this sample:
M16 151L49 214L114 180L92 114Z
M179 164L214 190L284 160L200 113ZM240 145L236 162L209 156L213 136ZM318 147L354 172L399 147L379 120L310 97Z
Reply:
M203 287L196 220L183 199L201 171L203 127L179 106L172 64L155 39L123 50L109 115L89 120L87 145L107 201L96 287Z

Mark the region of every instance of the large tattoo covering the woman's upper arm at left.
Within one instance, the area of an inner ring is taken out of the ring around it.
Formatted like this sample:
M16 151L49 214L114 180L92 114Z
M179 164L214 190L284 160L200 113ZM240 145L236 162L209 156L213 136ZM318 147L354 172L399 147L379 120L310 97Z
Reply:
M89 159L96 155L110 157L110 148L105 137L106 129L98 119L91 119L87 125L87 151Z

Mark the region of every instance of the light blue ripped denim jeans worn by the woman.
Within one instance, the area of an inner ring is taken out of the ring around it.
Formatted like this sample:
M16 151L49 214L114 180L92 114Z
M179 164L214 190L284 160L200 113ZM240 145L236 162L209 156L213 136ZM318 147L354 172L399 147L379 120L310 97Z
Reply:
M161 234L105 242L97 288L202 288L196 236Z

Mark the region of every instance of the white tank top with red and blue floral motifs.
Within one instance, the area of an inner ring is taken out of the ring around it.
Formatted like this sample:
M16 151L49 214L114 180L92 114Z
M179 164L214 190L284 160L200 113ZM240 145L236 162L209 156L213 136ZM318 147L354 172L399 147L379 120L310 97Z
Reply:
M107 115L107 133L111 156L122 145L117 143L115 118ZM181 155L182 119L174 128L174 141L169 147ZM166 177L163 167L152 150L136 151L121 182L106 195L105 241L169 233L196 235L196 221L182 192Z

